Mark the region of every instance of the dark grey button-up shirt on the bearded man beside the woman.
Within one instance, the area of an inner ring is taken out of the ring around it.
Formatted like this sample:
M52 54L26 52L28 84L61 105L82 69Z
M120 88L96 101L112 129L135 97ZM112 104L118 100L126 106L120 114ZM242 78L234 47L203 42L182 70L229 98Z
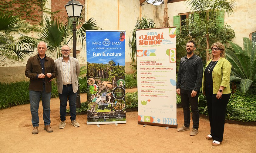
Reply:
M199 91L202 86L203 61L194 54L187 59L187 55L180 59L180 68L176 89Z

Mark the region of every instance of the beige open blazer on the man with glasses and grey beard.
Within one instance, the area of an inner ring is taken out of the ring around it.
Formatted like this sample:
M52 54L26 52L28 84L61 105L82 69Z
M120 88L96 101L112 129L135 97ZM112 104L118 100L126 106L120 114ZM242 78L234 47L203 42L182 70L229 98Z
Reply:
M63 89L63 69L62 69L62 57L57 58L54 60L56 70L57 70L57 86L58 86L58 93L62 93ZM76 93L78 89L78 81L77 77L80 74L80 65L79 61L76 58L70 57L70 68L71 68L71 79L72 79L72 87L73 92Z

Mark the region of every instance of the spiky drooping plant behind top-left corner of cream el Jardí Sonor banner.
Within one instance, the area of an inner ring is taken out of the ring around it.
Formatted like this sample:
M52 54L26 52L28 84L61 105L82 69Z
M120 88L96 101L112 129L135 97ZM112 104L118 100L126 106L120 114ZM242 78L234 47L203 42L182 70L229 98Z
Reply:
M129 47L131 48L130 56L131 56L131 65L136 67L137 55L136 55L136 30L137 29L147 29L147 28L155 28L156 24L153 19L150 18L141 18L135 24L135 28L133 29L131 39L129 40Z

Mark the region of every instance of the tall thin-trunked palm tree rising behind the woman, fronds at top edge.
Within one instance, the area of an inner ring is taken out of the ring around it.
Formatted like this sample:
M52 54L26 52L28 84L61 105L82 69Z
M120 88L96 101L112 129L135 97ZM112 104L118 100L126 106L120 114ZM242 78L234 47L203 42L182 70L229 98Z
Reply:
M218 11L224 11L227 14L234 12L236 3L234 0L188 0L186 2L188 7L191 6L190 11L194 11L202 18L206 28L206 62L209 60L209 32L208 32L208 17L209 14Z

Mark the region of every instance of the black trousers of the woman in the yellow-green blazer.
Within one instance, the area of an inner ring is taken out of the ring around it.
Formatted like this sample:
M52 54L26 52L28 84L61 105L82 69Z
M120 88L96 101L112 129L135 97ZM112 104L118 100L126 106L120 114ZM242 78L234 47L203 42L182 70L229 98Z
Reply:
M212 90L205 90L207 109L211 126L211 136L213 140L222 142L227 103L231 93L222 94L221 99L217 99L216 95L217 94L213 94Z

